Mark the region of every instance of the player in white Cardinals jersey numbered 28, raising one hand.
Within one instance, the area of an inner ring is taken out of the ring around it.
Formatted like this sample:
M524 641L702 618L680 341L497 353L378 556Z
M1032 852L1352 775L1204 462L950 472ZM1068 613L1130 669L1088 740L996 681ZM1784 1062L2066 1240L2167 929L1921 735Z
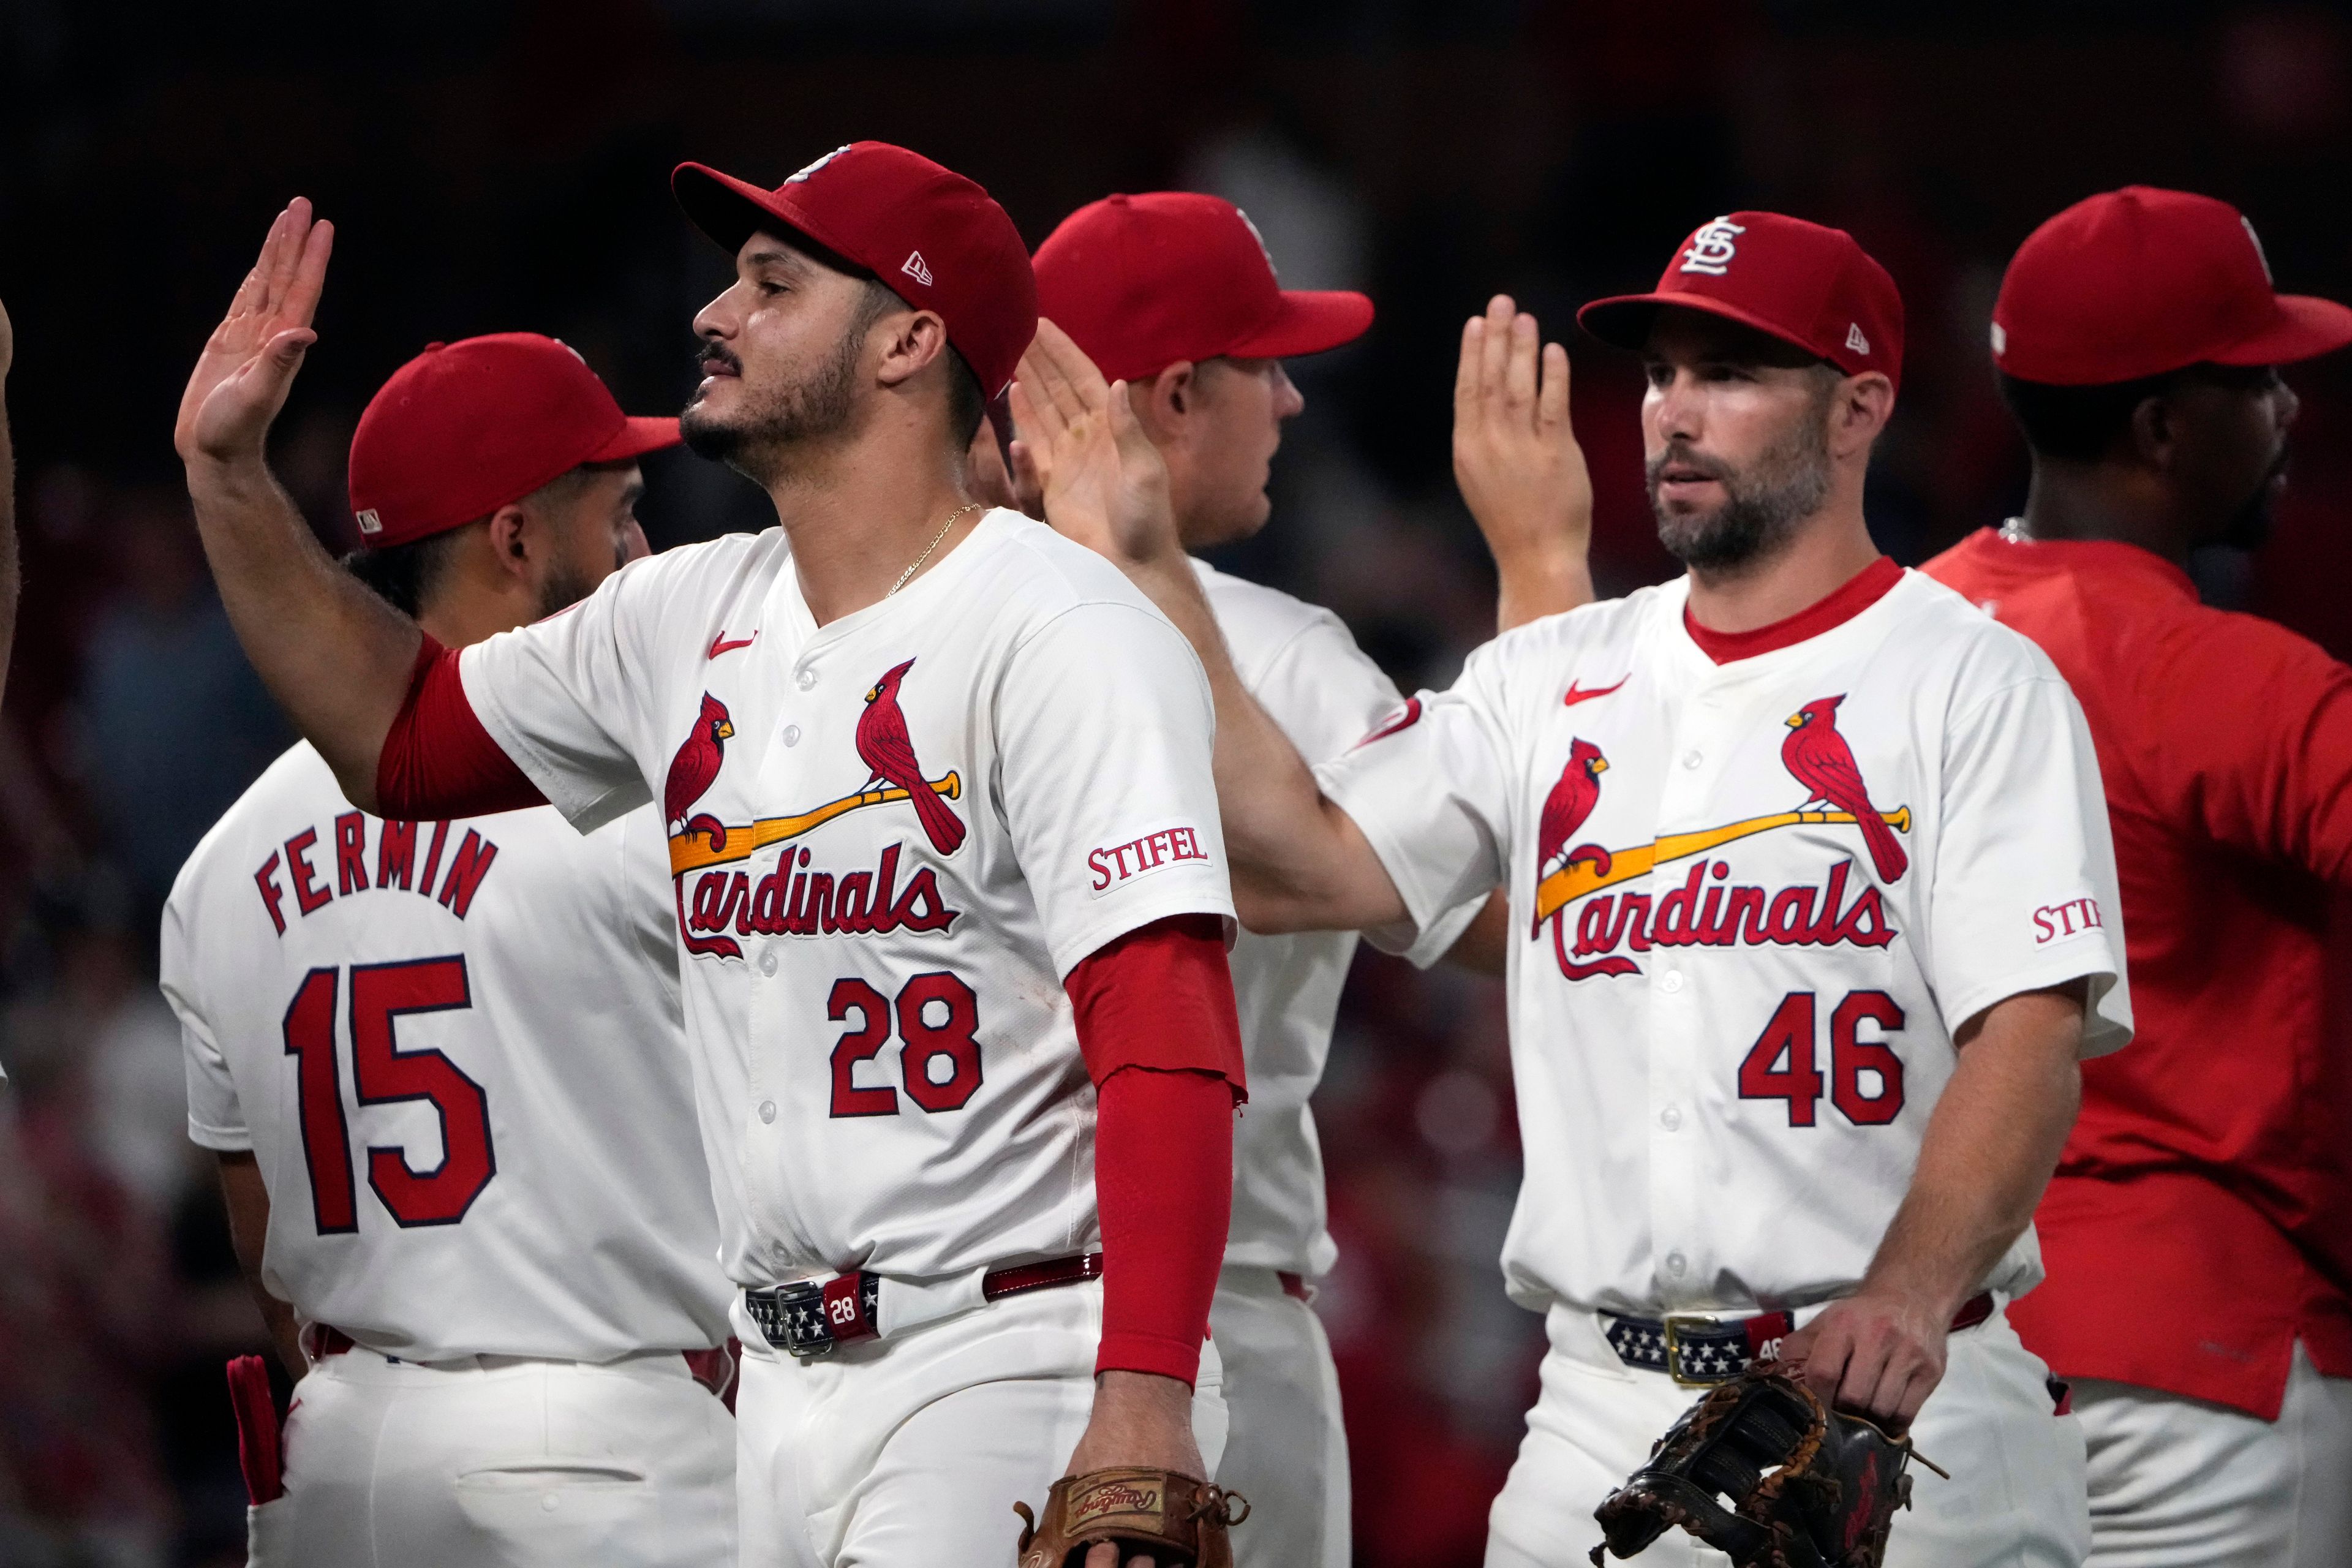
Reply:
M1223 1441L1244 1074L1209 691L1124 576L964 494L1035 331L978 186L861 141L675 190L736 259L682 430L781 529L461 654L353 592L261 458L325 280L306 202L181 454L240 637L346 792L579 827L659 802L741 1286L743 1561L995 1566L1063 1469L1204 1479Z

